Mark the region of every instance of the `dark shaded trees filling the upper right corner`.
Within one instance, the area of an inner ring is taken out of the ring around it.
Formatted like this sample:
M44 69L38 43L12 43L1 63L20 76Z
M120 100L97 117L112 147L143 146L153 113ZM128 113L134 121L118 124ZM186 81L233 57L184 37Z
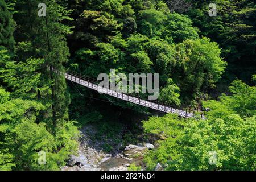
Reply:
M228 62L228 84L239 78L250 82L255 73L255 1L217 0L217 17L208 16L208 1L192 1L186 14L199 28L200 35L220 44L222 57Z

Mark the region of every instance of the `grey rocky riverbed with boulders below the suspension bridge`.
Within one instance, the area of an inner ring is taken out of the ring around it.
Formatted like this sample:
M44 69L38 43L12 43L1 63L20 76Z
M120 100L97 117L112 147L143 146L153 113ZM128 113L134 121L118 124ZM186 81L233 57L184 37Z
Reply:
M121 127L114 137L105 137L104 134L95 137L97 130L95 125L87 125L81 130L79 152L71 156L63 171L126 171L130 164L144 168L143 155L153 150L154 145L140 141L141 144L123 146L125 127Z

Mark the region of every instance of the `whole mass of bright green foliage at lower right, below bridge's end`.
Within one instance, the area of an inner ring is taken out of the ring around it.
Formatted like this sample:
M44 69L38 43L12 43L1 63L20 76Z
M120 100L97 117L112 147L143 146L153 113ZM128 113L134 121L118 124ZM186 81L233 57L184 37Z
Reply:
M205 102L204 106L211 109L205 113L206 121L184 122L166 115L144 122L146 133L164 139L144 158L148 169L160 163L166 170L255 170L255 93L249 94L254 90L234 81L232 96Z

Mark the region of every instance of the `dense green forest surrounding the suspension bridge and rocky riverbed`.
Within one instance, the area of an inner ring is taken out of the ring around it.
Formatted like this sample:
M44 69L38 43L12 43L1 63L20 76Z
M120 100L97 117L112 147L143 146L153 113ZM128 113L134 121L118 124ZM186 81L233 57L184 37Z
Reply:
M109 153L123 125L118 150L137 133L155 138L129 170L256 170L256 4L215 0L209 16L209 3L0 0L0 170L60 170L90 123ZM53 68L96 80L110 69L159 73L159 102L207 119L155 113Z

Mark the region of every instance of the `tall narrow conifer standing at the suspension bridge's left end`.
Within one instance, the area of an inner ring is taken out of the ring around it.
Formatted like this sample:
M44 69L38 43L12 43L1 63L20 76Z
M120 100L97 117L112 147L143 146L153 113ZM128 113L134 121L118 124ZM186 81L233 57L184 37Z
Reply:
M64 72L63 63L67 63L69 49L63 29L67 28L60 21L59 5L55 1L47 1L47 15L40 19L42 33L38 35L40 53L50 67L49 78L53 81L51 86L52 122L63 123L68 119L69 94L64 75L56 73L53 69ZM47 74L47 73L46 73Z

